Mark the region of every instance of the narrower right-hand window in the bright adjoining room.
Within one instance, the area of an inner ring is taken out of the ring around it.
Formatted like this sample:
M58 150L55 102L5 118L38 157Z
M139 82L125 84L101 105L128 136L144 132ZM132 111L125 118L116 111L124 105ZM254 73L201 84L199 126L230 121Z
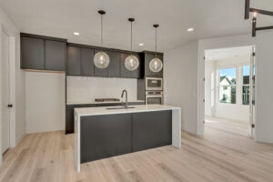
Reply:
M250 66L243 66L242 104L249 105L249 70Z

